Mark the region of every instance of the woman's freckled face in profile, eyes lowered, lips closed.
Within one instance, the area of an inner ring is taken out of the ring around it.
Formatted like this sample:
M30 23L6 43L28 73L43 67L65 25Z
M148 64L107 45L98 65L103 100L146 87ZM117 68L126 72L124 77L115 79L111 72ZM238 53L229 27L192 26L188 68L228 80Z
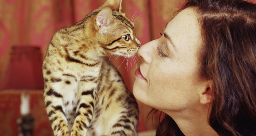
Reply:
M143 58L135 72L134 96L161 111L180 111L199 103L203 81L197 77L202 42L196 12L186 8L166 26L161 38L138 50Z

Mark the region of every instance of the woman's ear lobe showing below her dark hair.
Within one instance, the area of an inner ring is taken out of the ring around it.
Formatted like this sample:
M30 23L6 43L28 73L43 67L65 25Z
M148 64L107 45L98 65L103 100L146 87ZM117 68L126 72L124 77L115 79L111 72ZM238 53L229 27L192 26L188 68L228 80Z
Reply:
M201 104L204 105L204 104L211 103L212 91L213 91L213 81L209 80L205 82L203 89L200 91L199 99Z

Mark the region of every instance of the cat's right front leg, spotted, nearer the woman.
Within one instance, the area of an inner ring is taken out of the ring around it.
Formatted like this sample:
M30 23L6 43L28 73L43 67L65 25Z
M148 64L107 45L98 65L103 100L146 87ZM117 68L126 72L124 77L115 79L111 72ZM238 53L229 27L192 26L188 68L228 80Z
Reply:
M80 95L71 136L86 136L91 119L93 118L94 90L80 91Z

